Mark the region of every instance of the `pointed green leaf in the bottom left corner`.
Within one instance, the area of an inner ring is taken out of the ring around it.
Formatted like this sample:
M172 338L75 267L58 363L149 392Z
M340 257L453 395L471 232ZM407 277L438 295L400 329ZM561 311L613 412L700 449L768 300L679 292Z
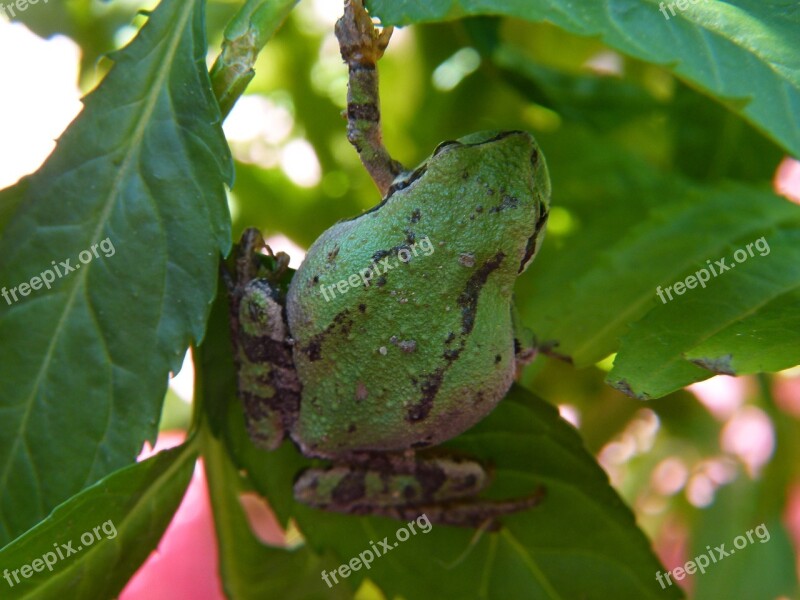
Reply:
M7 569L0 585L10 586L3 598L116 597L169 525L195 458L191 444L160 452L57 507L0 550L0 565Z

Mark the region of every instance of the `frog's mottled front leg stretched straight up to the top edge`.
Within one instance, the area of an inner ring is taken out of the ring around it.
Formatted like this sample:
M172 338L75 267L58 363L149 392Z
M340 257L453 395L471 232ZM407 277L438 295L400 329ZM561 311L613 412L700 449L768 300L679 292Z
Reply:
M344 16L336 22L336 38L350 74L347 139L355 147L382 196L404 170L403 165L389 156L381 134L377 62L391 36L391 27L380 33L375 30L362 0L345 2Z

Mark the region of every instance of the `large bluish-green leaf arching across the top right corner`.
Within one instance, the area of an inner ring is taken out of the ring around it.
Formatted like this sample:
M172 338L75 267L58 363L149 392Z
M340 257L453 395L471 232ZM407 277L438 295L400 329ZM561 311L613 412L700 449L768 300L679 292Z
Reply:
M612 48L664 65L800 156L800 13L794 0L690 3L667 18L655 2L585 3L555 0L371 0L387 25L506 15L550 21ZM665 5L674 2L664 3Z

